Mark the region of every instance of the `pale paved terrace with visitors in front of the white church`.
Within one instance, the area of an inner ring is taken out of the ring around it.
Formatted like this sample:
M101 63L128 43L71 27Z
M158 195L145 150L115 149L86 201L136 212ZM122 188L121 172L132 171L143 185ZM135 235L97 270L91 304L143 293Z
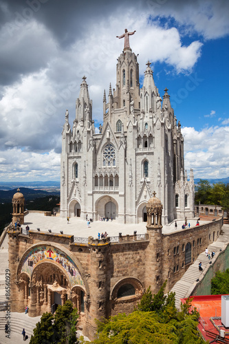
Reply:
M195 219L188 219L190 222L190 227L195 226L197 223L197 217ZM205 224L208 221L200 221L200 224ZM177 231L182 230L182 224L184 221L177 220ZM105 231L109 234L110 237L122 233L122 235L133 235L133 231L137 230L137 234L146 233L146 222L140 224L119 224L118 221L109 220L105 221L96 221L91 222L90 228L87 228L86 220L80 219L78 217L72 217L67 224L67 219L62 217L54 216L45 216L43 213L28 213L25 216L25 224L23 228L28 224L30 229L36 230L40 228L41 231L47 232L49 229L52 230L52 233L60 233L60 230L63 230L64 234L72 234L77 237L89 237L94 238L98 237L98 232L104 233ZM162 233L172 233L175 231L175 221L167 226L163 226Z

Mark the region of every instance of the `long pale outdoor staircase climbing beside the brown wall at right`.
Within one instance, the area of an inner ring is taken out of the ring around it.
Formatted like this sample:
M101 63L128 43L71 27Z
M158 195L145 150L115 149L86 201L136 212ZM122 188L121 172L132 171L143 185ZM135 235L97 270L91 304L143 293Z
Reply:
M222 231L223 234L219 235L217 241L214 241L208 246L208 252L211 253L212 251L215 251L215 257L210 259L212 262L216 259L220 250L224 250L229 243L229 224L223 224ZM202 262L202 272L199 272L199 261ZM182 278L175 283L171 292L175 292L175 306L177 309L180 308L180 299L190 296L190 293L195 288L197 279L202 277L204 271L208 270L208 267L209 259L206 257L205 252L201 252L196 261L188 268L188 270L186 270Z

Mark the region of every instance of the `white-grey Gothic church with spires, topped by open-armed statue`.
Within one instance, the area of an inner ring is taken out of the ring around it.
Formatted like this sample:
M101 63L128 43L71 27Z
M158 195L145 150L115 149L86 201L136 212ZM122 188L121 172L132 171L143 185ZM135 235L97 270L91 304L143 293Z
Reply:
M162 225L194 217L194 176L184 169L184 138L171 107L163 100L146 63L140 88L137 56L129 45L116 65L116 88L103 96L103 125L96 131L92 100L83 76L72 129L65 113L61 153L61 216L146 222L153 191L162 202Z

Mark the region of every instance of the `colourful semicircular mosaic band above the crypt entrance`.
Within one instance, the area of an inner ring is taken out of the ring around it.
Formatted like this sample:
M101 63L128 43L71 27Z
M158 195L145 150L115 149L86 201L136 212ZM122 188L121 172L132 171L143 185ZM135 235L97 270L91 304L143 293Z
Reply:
M34 268L36 268L37 264L41 263L41 261L48 262L50 260L55 261L57 264L60 264L62 268L64 268L67 276L69 277L71 286L78 284L84 287L83 279L80 276L74 261L72 261L72 259L66 255L65 252L54 246L36 246L25 257L21 272L27 272L31 278L32 271Z

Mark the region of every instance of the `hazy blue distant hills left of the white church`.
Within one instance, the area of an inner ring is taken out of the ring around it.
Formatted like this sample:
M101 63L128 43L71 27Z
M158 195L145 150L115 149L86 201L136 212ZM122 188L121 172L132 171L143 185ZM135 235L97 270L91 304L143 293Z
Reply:
M17 193L17 189L12 189L12 190L8 190L8 191L0 190L0 202L1 203L11 202L14 193ZM34 200L34 199L39 198L39 197L45 197L45 196L48 196L51 194L52 195L59 195L60 194L59 191L52 191L52 193L50 193L47 191L34 190L34 189L28 189L28 188L21 188L20 193L23 193L26 201Z

